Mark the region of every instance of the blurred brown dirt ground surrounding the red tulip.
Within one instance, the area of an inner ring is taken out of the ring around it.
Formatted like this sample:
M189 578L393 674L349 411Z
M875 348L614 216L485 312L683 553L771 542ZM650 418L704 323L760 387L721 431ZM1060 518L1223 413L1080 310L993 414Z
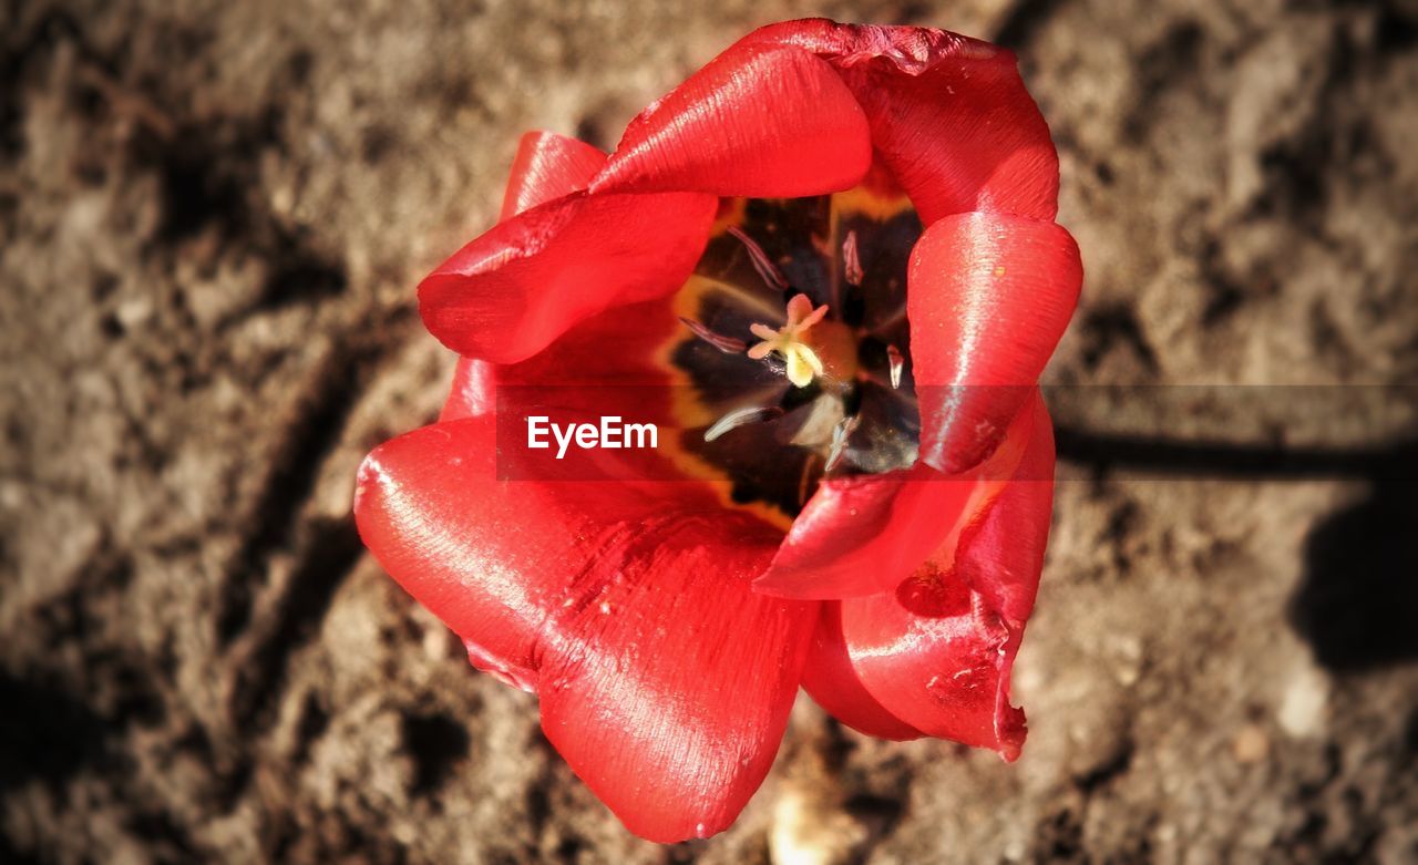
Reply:
M1418 862L1408 415L1059 406L1024 759L801 699L672 848L363 554L518 135L804 14L1020 52L1089 271L1051 381L1418 380L1414 3L0 0L0 861Z

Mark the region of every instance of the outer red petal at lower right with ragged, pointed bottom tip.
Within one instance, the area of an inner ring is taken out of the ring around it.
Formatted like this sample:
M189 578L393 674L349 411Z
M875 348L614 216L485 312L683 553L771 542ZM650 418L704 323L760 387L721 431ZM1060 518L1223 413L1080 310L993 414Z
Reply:
M891 715L1014 760L1024 712L1010 672L1034 604L1052 505L1054 437L1041 400L1017 476L960 540L896 593L841 603L842 637L864 689Z

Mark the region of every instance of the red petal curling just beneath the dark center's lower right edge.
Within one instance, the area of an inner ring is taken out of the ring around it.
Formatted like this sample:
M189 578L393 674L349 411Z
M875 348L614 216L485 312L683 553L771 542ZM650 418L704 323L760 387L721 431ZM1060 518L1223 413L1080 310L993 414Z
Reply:
M820 600L895 591L933 552L953 549L966 526L1000 495L1031 428L1032 420L1021 413L988 461L957 475L917 464L825 481L793 520L754 588Z

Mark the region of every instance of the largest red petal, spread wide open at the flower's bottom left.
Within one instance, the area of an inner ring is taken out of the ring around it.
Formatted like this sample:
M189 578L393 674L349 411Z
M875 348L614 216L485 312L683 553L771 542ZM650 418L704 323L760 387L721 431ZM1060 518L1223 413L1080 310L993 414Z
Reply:
M666 484L496 479L495 418L437 424L360 469L389 573L542 696L547 737L654 841L727 827L767 773L817 606L753 593L781 533Z

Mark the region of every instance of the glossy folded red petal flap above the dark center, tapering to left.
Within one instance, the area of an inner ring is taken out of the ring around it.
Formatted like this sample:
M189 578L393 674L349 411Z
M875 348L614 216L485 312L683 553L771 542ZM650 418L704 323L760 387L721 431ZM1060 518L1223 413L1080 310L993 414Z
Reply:
M828 64L742 47L631 121L591 190L815 196L855 186L871 160L862 108Z

